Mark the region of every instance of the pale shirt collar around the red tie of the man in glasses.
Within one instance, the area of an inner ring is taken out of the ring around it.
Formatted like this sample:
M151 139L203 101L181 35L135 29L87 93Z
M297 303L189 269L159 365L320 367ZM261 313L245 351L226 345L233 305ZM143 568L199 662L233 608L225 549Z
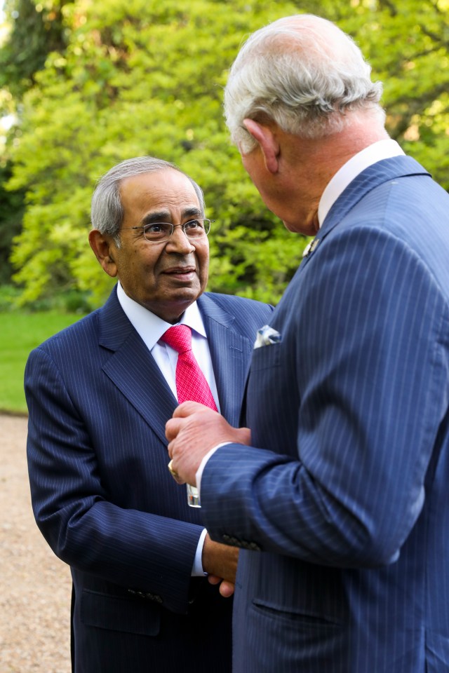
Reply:
M159 318L158 315L154 315L154 313L145 308L145 306L138 304L137 301L128 297L128 294L126 294L123 287L121 287L121 283L118 283L117 285L117 298L119 299L120 306L123 308L126 317L142 340L145 341L149 351L151 351L159 339L161 339L162 334L166 332L169 327L173 327L170 322L162 320L162 318ZM177 324L188 325L197 334L200 334L201 337L207 338L203 318L201 318L199 306L196 301L186 308L181 316L180 322Z

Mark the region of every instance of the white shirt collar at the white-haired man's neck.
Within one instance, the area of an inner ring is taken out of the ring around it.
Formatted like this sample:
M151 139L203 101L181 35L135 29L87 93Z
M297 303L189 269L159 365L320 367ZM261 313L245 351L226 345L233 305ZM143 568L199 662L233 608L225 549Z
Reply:
M368 166L377 163L377 161L389 159L393 156L399 156L400 154L404 154L401 147L399 147L396 140L391 140L391 138L389 138L388 140L379 140L365 149L362 149L362 151L355 154L349 161L342 165L342 168L337 170L332 179L330 179L330 182L328 182L326 189L321 195L318 207L320 227L337 198L357 175L368 168Z

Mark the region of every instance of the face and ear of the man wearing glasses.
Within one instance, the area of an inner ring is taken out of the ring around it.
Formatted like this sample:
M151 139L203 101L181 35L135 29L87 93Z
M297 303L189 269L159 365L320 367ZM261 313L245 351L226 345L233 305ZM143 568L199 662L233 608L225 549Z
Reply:
M120 193L120 247L96 230L89 235L91 247L128 297L166 322L177 322L208 282L207 236L192 241L176 226L203 215L194 187L181 172L168 168L123 179ZM150 243L142 229L132 229L154 222L175 225L169 240Z

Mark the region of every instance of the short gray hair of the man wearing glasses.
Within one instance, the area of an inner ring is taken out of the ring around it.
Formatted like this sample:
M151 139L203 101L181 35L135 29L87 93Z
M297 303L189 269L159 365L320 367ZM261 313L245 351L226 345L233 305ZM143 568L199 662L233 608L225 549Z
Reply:
M169 161L163 161L163 159L157 159L153 156L137 156L132 159L126 159L126 161L121 161L121 163L108 170L98 181L92 196L92 228L112 236L117 247L120 247L119 232L124 214L120 196L121 181L126 177L133 177L133 175L152 173L158 170L166 170L167 168L177 170L192 183L199 200L201 212L204 213L203 191L189 175Z

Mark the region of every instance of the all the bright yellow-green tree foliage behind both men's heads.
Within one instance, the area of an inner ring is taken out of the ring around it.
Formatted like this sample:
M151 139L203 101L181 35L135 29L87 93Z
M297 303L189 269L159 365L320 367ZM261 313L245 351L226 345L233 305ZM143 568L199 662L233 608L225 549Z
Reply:
M51 11L52 2L46 2ZM118 161L174 161L203 187L209 289L276 302L305 240L267 211L229 143L227 69L249 32L310 11L350 32L385 82L389 130L448 186L446 0L76 0L62 4L65 48L22 101L11 189L27 191L13 263L32 302L72 287L98 304L110 282L88 249L95 181ZM424 235L424 233L423 233Z

